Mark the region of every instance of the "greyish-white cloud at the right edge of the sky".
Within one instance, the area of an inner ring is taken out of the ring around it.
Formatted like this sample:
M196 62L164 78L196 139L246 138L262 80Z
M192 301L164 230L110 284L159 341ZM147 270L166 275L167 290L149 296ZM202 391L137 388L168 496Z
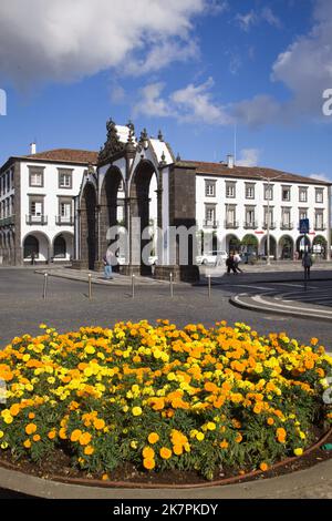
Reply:
M317 0L313 27L297 38L272 67L271 80L289 90L286 102L257 95L235 106L241 121L249 124L294 122L303 118L321 120L325 89L332 86L332 2ZM326 122L332 121L324 118Z

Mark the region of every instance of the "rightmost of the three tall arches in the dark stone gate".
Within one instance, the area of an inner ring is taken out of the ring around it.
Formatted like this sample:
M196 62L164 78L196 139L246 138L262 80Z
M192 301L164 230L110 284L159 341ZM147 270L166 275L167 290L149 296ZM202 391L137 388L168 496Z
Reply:
M151 185L155 176L158 186L158 174L149 161L141 161L136 167L129 185L129 265L141 275L151 275L152 267L147 258L143 258L144 248L151 243ZM159 191L157 190L157 207L159 206ZM157 212L158 213L158 212ZM159 215L157 217L159 225Z

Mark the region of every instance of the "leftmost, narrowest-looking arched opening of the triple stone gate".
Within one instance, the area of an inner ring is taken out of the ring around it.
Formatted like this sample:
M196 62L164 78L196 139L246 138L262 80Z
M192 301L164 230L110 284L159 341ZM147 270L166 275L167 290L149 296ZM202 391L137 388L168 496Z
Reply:
M96 260L96 193L91 183L86 183L81 202L81 258L94 269Z

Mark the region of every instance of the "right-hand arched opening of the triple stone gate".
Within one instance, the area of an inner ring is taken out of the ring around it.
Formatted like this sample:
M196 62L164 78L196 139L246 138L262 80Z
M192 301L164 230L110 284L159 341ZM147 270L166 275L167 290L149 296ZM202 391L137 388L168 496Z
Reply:
M147 245L153 244L153 255L157 228L157 174L153 164L142 161L131 182L131 265L139 265L142 275L149 275ZM139 221L138 221L139 219ZM139 246L141 245L141 246ZM142 255L144 251L144 255Z

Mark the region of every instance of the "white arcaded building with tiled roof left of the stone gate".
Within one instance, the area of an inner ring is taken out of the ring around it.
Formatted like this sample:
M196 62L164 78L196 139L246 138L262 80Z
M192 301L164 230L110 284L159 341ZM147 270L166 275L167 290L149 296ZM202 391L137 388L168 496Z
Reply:
M12 156L0 168L0 260L66 262L74 248L74 196L96 152L60 149Z

